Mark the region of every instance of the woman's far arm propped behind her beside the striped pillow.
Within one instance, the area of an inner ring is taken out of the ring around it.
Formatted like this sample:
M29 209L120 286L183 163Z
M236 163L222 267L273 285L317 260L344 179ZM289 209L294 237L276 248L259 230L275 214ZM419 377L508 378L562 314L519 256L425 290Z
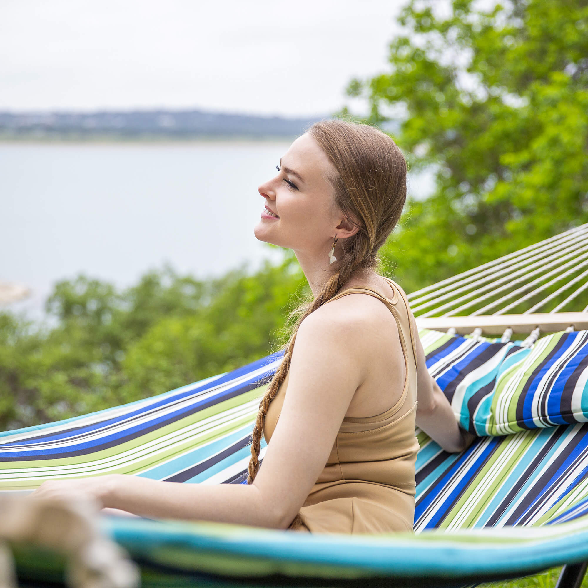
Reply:
M413 321L414 332L417 333L416 321ZM431 439L451 453L460 452L472 444L476 438L472 433L463 430L457 423L449 400L435 379L427 372L425 350L418 336L416 339L417 355L417 400L416 425Z

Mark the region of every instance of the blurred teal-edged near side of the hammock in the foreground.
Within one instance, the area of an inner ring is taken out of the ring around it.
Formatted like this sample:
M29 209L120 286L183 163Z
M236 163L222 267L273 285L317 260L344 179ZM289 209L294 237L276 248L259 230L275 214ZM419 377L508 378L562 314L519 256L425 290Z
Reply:
M521 576L588 559L588 517L544 527L414 535L298 534L219 523L103 517L133 559L215 576L439 580Z

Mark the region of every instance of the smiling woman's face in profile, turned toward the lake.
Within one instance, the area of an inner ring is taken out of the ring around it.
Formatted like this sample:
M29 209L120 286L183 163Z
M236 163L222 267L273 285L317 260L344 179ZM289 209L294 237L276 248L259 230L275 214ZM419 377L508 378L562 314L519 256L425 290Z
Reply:
M290 145L277 167L278 175L258 188L266 208L253 229L256 238L311 254L329 249L343 219L327 180L334 172L332 163L305 133Z

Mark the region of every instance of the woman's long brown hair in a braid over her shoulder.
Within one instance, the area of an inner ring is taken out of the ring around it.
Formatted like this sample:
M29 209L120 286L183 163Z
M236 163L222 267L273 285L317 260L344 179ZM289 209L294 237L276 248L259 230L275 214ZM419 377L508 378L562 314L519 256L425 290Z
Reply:
M338 268L316 298L290 313L290 322L293 316L298 316L298 319L293 325L290 340L283 346L282 363L259 403L253 427L249 484L259 469L265 416L290 368L298 326L311 312L333 298L356 273L376 268L379 261L377 250L395 228L406 200L406 161L386 133L372 126L338 119L317 122L308 132L336 170L336 174L329 178L335 192L335 205L359 230L340 241Z

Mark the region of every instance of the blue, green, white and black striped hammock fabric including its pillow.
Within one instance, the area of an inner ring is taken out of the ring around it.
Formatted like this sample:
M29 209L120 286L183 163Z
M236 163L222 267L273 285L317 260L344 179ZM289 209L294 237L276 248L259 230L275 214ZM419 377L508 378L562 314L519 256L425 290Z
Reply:
M181 574L176 585L192 576L449 586L588 560L588 332L554 333L532 349L419 335L427 367L462 425L483 436L449 454L417 432L416 534L308 536L103 517L103 527L147 570L143 585L163 577L172 586ZM275 353L91 415L0 433L0 490L112 472L242 483L259 397L280 358ZM58 573L52 560L26 553L21 569L29 577Z

